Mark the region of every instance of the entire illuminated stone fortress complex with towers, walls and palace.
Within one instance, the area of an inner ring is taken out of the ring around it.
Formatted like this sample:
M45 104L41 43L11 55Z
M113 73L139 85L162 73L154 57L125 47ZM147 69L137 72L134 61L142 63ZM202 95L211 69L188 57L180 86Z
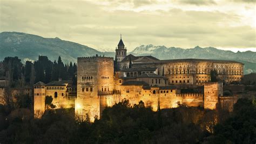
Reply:
M85 118L87 113L92 121L95 116L100 117L106 106L122 99L129 99L132 105L142 100L154 111L179 105L215 109L223 96L223 82L239 82L244 75L244 64L236 61L159 60L153 56L126 55L126 51L121 38L115 60L98 55L78 57L76 99L65 98L69 97L68 83L63 83L62 88L59 85L59 89L38 83L34 89L34 110L44 110L46 95L55 97L54 104L65 103L64 107L72 106L69 100L75 101L76 114ZM221 82L211 82L212 71ZM63 98L58 99L55 92L62 93Z

